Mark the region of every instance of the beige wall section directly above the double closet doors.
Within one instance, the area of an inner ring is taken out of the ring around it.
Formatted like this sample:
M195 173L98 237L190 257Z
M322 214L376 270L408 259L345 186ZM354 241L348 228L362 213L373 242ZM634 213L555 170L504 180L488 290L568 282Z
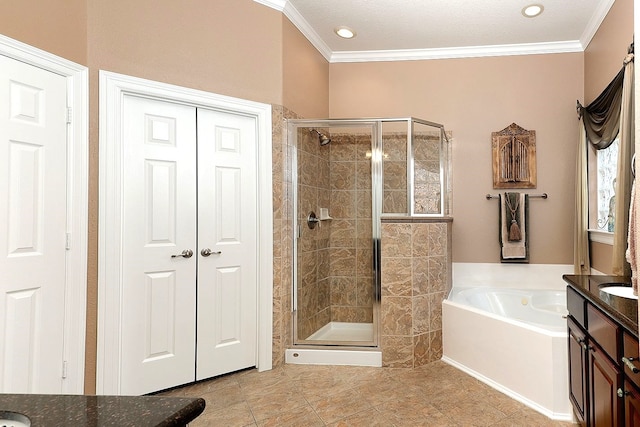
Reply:
M92 78L102 69L281 103L283 18L276 10L252 0L88 5Z

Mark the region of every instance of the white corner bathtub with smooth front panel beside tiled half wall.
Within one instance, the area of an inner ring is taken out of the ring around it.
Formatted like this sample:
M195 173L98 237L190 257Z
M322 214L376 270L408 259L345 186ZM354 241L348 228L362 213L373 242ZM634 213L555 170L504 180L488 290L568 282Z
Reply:
M456 275L454 265L454 286L442 303L442 360L549 418L571 421L563 273L551 268L555 279L536 289L531 278L545 274L520 266L523 275L511 284L483 285L475 277L468 286L461 279L467 267ZM508 267L507 274L515 270Z

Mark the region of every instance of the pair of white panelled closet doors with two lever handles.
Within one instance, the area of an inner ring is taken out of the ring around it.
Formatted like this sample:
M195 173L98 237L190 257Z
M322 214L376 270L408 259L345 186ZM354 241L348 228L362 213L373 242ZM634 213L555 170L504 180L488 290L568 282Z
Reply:
M256 364L256 124L126 96L121 393Z

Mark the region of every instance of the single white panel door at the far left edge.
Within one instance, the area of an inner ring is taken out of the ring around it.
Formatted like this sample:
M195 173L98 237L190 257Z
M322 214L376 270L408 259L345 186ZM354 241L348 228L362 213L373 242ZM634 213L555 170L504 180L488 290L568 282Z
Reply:
M60 393L66 79L0 56L0 392Z

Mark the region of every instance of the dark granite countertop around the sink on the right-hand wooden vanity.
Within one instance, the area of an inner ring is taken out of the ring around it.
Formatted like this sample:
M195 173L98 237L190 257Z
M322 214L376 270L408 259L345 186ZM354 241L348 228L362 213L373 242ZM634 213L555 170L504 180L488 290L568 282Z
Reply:
M600 291L600 288L611 283L631 286L629 277L565 274L562 278L593 305L618 321L627 332L638 337L638 300Z

